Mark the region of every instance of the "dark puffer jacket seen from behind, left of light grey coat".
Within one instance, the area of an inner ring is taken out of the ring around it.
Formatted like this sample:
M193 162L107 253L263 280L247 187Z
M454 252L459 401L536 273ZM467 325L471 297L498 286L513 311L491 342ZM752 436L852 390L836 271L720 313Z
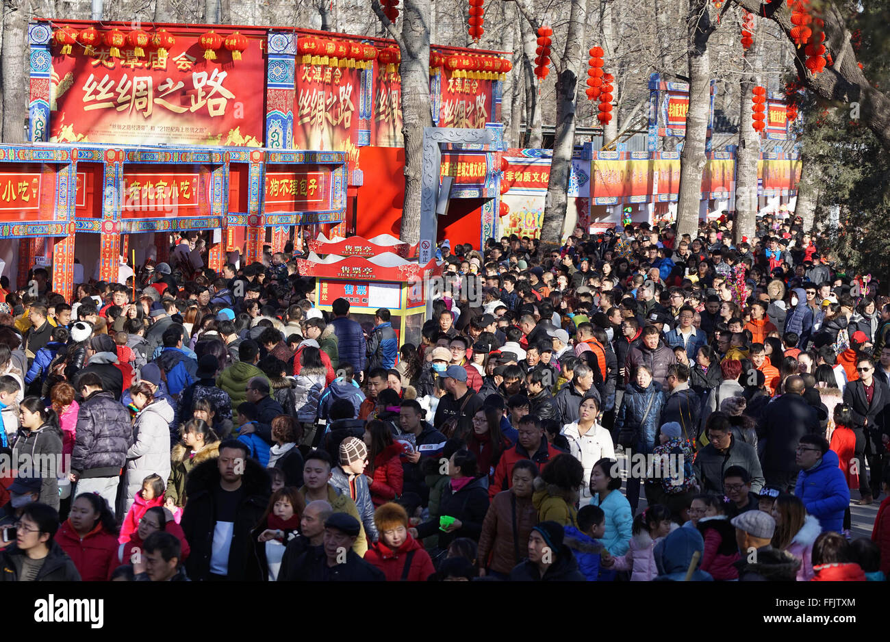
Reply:
M71 469L80 477L117 477L133 442L130 413L110 392L93 392L77 413Z

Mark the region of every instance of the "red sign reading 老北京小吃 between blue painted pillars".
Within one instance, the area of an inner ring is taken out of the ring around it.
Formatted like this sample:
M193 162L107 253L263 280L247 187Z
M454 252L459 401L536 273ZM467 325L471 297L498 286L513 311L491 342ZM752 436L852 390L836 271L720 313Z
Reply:
M136 165L124 173L125 219L206 216L209 210L209 172L158 173Z

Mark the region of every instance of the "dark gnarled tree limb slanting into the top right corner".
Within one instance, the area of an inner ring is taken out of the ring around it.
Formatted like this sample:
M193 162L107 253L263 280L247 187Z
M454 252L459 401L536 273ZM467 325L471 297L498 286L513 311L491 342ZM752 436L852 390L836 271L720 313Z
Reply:
M791 14L780 11L783 2L760 4L759 0L735 0L737 4L756 15L774 20L790 40ZM797 75L805 86L825 100L844 103L859 103L859 118L874 132L881 146L890 151L890 96L880 92L865 77L859 68L850 36L845 28L845 20L837 7L831 3L822 4L821 19L824 21L825 47L834 60L821 74L811 74L804 66L805 56L795 59Z

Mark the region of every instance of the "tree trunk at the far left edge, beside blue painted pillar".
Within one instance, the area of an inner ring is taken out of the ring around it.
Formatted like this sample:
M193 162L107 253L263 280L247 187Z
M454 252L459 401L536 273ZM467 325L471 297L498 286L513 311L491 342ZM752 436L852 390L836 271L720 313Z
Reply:
M25 142L28 115L28 0L4 0L3 45L3 141Z

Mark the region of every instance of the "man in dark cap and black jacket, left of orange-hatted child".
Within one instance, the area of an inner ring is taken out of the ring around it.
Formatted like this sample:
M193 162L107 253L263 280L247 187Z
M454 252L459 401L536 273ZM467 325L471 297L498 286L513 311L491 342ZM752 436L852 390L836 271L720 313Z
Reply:
M386 576L376 566L360 558L352 544L359 536L360 525L346 513L332 513L325 520L321 546L307 550L297 559L294 573L287 575L294 582L385 582Z

